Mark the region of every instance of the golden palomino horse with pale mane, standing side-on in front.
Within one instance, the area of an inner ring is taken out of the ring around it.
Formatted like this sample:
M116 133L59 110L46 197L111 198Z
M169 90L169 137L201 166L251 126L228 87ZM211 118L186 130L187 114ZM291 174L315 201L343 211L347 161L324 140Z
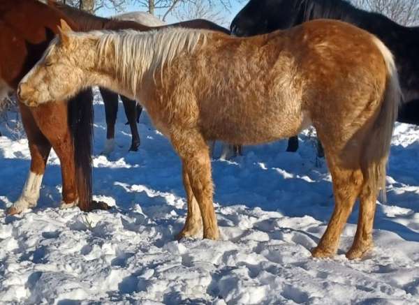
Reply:
M332 20L251 38L182 28L75 33L63 22L17 96L35 107L94 85L138 98L179 154L188 203L179 238L201 230L219 238L208 140L259 144L313 124L335 211L312 254L336 253L357 198L360 219L346 255L360 258L372 247L400 100L392 54L372 34Z

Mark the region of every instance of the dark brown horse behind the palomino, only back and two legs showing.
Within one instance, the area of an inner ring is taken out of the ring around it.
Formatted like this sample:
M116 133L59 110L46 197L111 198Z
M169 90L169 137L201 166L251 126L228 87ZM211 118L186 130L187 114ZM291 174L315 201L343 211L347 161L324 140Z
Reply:
M151 29L159 29L161 27L147 27L138 22L128 21L128 20L116 20L112 18L98 17L91 15L77 8L67 6L62 3L57 3L54 0L49 0L48 4L57 8L64 13L68 18L76 22L79 27L79 31L92 31L92 30L117 30L117 29L136 29L138 31L149 31ZM217 24L209 22L207 20L190 20L186 22L179 22L177 24L170 24L168 26L162 27L189 27L196 29L212 29L214 31L221 31L226 34L230 34L228 29L224 29ZM105 104L105 115L106 115L106 125L108 126L106 133L106 144L104 153L107 154L112 151L114 145L113 139L115 138L115 121L117 119L117 110L118 110L118 95L107 89L100 88L101 95L103 98L103 103ZM140 145L140 135L138 134L137 122L140 118L142 112L142 107L138 104L136 105L135 101L127 98L126 96L121 96L121 100L124 103L124 110L126 118L131 128L132 140L131 148L129 150L136 151Z

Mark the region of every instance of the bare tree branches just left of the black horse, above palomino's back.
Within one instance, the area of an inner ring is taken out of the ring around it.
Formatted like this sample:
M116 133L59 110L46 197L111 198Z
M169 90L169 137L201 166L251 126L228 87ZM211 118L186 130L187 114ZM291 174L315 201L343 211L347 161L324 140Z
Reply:
M172 15L179 21L203 18L218 24L227 24L226 15L221 8L211 5L206 0L181 3Z

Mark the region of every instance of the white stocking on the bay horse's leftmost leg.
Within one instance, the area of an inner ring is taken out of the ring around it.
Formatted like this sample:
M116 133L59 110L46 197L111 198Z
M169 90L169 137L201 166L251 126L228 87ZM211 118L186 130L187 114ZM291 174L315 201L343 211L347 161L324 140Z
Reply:
M12 207L15 212L21 213L22 211L35 207L39 199L39 191L41 190L43 174L35 174L29 171L27 181L24 183L22 194L16 200Z

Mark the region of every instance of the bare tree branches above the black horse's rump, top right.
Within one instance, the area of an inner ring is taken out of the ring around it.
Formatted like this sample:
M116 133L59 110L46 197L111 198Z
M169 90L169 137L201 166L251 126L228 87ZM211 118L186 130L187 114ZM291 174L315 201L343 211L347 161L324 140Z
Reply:
M419 23L419 0L353 0L355 5L411 26Z

